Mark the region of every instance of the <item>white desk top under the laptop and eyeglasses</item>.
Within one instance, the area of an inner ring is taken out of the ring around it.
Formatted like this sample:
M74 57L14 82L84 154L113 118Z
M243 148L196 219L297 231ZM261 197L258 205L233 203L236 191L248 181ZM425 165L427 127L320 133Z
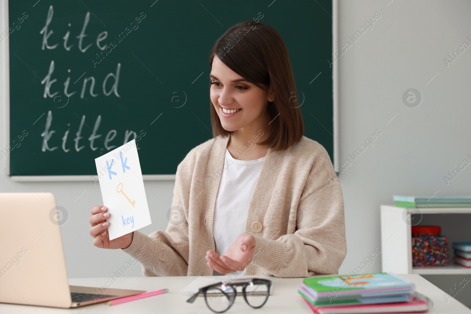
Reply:
M414 282L416 290L433 300L434 306L429 311L430 314L471 314L471 310L456 301L449 300L447 303L445 292L423 279L418 274L400 275L404 279ZM252 277L252 276L241 276ZM234 305L226 312L227 314L286 314L286 313L306 313L312 314L308 305L298 294L298 286L302 278L268 278L273 282L273 295L269 296L267 303L254 309L247 305L242 296L235 298ZM168 288L170 292L161 295L148 297L140 300L130 301L115 306L108 306L105 303L82 306L74 309L58 309L42 306L22 306L12 304L0 304L1 314L90 314L90 313L123 313L123 314L161 314L161 313L181 313L181 314L212 314L207 308L204 298L199 297L192 303L187 303L189 294L179 292L187 284L197 277L121 277L116 278L112 288L135 289L154 291ZM109 278L80 278L69 279L71 285L81 285L89 287L100 287L101 284L109 281Z

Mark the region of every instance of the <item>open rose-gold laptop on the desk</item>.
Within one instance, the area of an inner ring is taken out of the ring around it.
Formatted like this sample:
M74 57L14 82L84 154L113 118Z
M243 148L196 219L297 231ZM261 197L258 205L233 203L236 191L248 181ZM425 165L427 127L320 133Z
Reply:
M52 193L0 193L1 303L70 308L146 292L69 286L55 207Z

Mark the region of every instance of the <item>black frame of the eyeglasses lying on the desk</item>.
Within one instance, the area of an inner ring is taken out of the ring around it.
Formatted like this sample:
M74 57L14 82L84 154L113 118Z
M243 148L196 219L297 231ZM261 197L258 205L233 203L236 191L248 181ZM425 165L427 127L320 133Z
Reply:
M252 306L248 301L247 301L247 297L245 295L245 289L247 288L248 285L250 285L251 283L253 284L254 281L262 281L263 284L266 284L267 285L267 297L265 298L265 301L263 301L263 303L260 305L260 306ZM208 304L208 298L207 298L207 295L206 295L206 291L208 291L209 289L211 288L214 288L214 287L218 287L218 286L221 286L221 285L225 285L225 286L230 286L232 289L234 289L234 293L232 294L233 296L229 298L229 296L227 295L227 293L221 289L219 289L222 293L224 293L224 295L226 296L226 298L229 299L229 306L227 306L227 309L225 309L224 311L215 311L211 308L211 306ZM206 306L209 307L209 309L211 311L213 311L214 313L224 313L226 312L233 304L234 304L234 301L235 301L235 297L237 296L237 290L235 287L237 286L243 286L242 287L242 296L244 297L244 300L245 300L245 303L247 303L249 306L253 307L253 308L260 308L262 306L265 305L265 303L267 303L268 301L268 297L270 295L270 288L271 288L271 280L268 280L268 279L262 279L262 278L247 278L247 279L239 279L239 280L227 280L227 281L223 281L223 282L217 282L217 283L213 283L209 286L206 286L206 287L203 287L203 288L200 288L198 290L198 292L196 292L191 298L187 299L187 302L188 303L193 303L195 302L196 298L201 294L203 293L203 296L204 296L204 302L206 303Z

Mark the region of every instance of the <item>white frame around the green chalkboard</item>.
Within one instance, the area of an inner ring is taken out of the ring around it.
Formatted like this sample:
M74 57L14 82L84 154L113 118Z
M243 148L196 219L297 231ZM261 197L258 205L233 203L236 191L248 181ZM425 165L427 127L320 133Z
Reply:
M0 16L3 17L0 27L8 31L9 11L8 1L0 0ZM338 0L332 0L332 51L338 48ZM4 71L0 74L0 90L3 92L3 99L0 98L4 113L4 144L8 147L10 143L10 84L9 84L9 36L0 43L0 62ZM333 84L333 168L337 169L339 164L339 142L336 140L339 136L339 86L338 86L338 63L332 64L332 84ZM94 181L97 176L76 175L76 176L19 176L10 174L10 154L5 157L5 174L12 181L17 182L69 182L69 181ZM338 172L337 172L338 174ZM175 180L175 175L143 175L144 180Z

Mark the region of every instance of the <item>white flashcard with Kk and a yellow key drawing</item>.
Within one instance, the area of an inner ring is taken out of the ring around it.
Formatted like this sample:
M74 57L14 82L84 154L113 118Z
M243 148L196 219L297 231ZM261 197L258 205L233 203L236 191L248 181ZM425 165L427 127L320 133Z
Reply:
M110 240L150 225L136 140L95 159Z

